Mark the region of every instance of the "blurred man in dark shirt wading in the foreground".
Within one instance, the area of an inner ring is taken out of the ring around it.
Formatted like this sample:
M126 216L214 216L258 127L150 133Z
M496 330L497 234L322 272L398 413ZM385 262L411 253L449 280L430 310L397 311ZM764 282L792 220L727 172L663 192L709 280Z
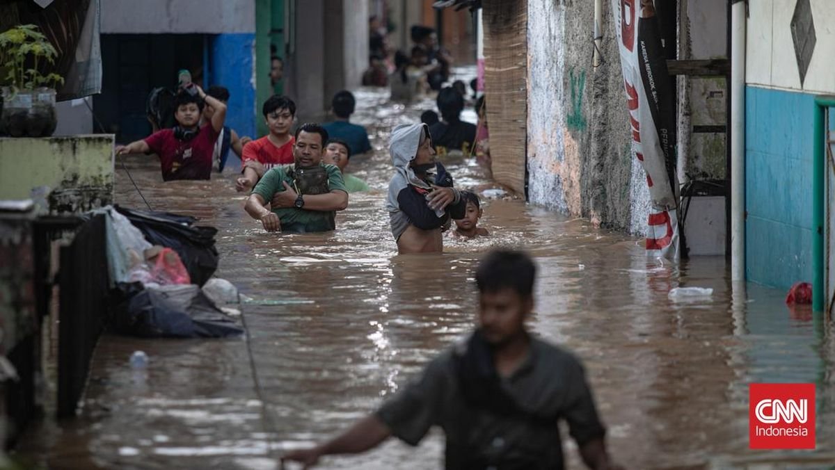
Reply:
M535 273L528 255L489 254L475 277L476 331L377 412L282 461L310 467L319 457L365 452L392 435L417 445L437 425L447 437L447 468L562 469L558 423L564 419L586 465L620 469L606 452L605 428L579 360L525 330L534 310Z

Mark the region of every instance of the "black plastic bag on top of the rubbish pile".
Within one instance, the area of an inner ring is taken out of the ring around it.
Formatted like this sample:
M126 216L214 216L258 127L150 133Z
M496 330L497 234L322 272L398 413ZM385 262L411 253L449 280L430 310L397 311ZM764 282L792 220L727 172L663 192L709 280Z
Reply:
M191 282L203 286L217 269L214 227L198 227L196 219L168 212L130 210L115 206L120 214L142 231L152 245L171 248L180 255Z

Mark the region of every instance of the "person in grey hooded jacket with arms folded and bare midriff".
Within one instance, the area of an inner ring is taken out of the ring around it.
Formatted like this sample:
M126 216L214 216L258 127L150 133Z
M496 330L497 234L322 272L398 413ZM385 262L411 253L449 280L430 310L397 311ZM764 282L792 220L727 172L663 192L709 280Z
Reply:
M435 162L432 137L426 124L402 124L392 131L389 144L395 174L388 184L387 210L397 251L443 251L441 228L467 209L453 179Z

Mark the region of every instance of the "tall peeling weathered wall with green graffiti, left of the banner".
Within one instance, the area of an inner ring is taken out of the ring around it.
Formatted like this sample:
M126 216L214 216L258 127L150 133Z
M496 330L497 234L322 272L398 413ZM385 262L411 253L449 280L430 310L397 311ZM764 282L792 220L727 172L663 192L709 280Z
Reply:
M591 63L593 2L528 0L528 8L530 202L642 233L649 191L631 152L608 2L604 63L596 69Z

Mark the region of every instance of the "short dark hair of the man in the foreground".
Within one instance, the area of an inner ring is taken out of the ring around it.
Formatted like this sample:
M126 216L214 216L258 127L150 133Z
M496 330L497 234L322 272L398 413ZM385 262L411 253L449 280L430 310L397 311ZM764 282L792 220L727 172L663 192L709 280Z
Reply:
M498 292L513 289L519 296L534 295L536 265L522 251L491 251L478 264L475 282L479 292Z

